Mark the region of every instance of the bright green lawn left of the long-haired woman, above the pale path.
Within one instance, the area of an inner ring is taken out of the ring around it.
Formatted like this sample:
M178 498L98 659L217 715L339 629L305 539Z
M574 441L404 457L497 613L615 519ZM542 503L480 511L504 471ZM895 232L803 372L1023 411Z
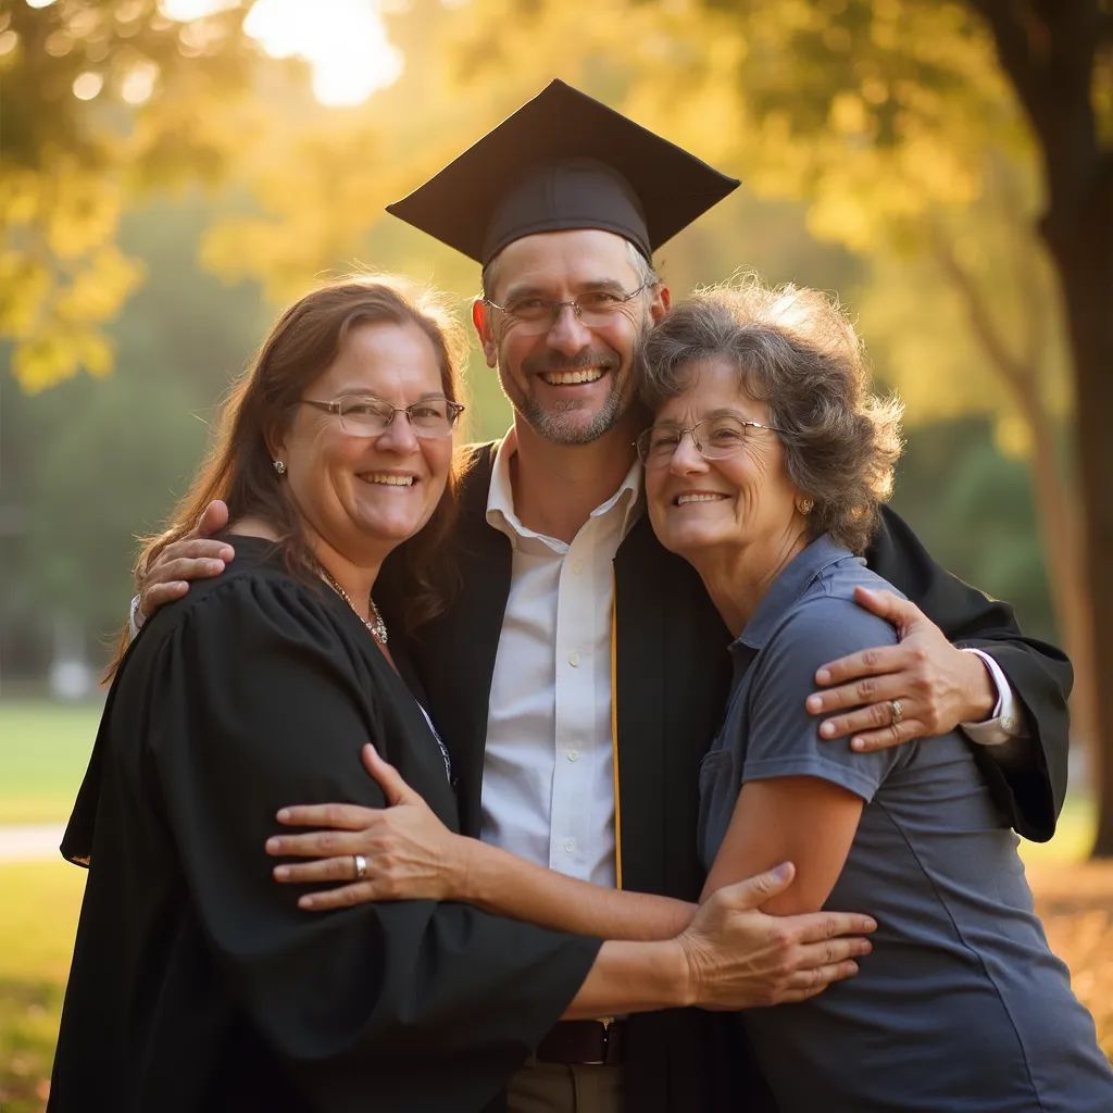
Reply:
M69 818L100 710L99 702L0 700L0 824Z

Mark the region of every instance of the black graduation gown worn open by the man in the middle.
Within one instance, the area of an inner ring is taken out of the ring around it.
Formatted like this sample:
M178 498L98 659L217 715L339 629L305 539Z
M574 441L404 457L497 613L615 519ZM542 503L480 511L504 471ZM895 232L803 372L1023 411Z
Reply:
M470 835L480 829L487 699L511 577L509 540L485 518L496 447L473 446L461 482L454 556L463 590L410 643L460 777L462 829ZM1050 838L1066 789L1068 661L1054 647L1021 637L1006 603L944 571L888 509L867 561L952 641L993 650L1028 713L1032 760L1004 768L992 747L975 752L1016 829ZM691 900L703 881L696 855L697 775L726 706L730 636L695 570L658 543L646 516L619 548L614 582L622 885ZM713 1107L722 1087L738 1082L719 1077L721 1056L700 1054L719 1036L715 1021L695 1011L633 1017L630 1107ZM749 1081L746 1086L752 1092Z

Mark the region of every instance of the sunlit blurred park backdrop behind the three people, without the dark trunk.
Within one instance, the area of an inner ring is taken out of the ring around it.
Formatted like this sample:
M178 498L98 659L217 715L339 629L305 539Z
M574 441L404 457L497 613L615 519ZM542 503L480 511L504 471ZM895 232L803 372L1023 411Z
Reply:
M1092 838L1101 687L1077 376L1037 227L1041 140L977 8L0 0L0 858L6 831L49 840L68 815L136 538L280 306L373 267L434 282L466 315L477 268L383 207L561 77L743 179L660 253L674 297L739 268L837 292L879 388L907 403L898 510L1070 649L1074 791L1061 835L1028 853L1085 893L1060 865ZM1103 49L1106 144L1111 69ZM470 388L469 432L500 435L509 411L479 358ZM79 886L0 861L4 1113L45 1099ZM1054 907L1113 1050L1106 896Z

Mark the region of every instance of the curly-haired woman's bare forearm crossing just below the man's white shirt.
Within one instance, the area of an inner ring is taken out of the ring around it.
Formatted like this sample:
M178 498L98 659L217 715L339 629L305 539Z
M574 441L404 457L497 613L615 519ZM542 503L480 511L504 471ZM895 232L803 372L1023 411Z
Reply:
M696 912L683 900L603 888L476 839L467 844L460 899L486 912L607 939L671 939Z

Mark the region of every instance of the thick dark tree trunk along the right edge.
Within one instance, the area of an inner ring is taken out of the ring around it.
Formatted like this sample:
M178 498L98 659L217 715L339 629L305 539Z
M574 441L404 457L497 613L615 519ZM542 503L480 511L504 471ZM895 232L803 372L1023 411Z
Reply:
M1099 684L1113 678L1113 150L1093 105L1095 57L1110 65L1099 0L968 0L1038 140L1047 187L1041 224L1058 274L1074 364L1086 585ZM1102 52L1099 53L1099 50ZM1113 699L1097 707L1094 855L1113 857Z

